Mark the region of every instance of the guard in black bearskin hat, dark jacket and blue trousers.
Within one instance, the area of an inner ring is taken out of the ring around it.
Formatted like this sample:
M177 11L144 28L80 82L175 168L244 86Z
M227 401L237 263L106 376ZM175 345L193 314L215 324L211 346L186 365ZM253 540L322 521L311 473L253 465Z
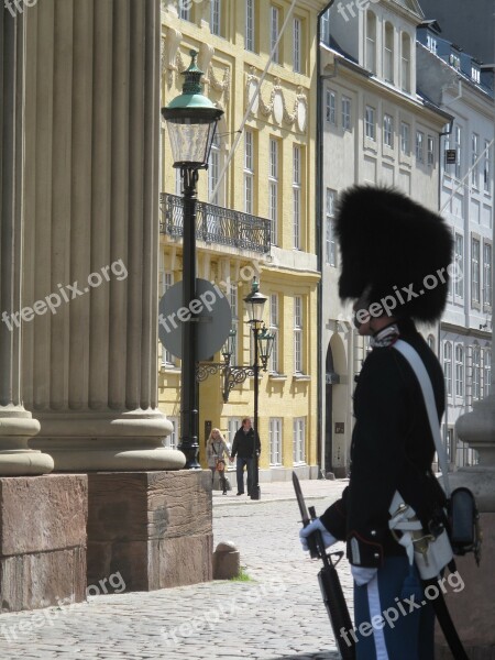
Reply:
M373 350L354 393L349 486L301 530L301 541L307 546L307 536L320 529L327 547L346 542L354 630L341 635L345 641L354 637L358 660L432 660L431 604L420 598L425 605L413 612L403 605L406 615L399 610L405 585L418 574L389 531L388 509L398 491L426 524L444 504L444 494L431 471L435 442L419 383L393 345L400 338L419 353L440 420L442 370L414 321L441 316L452 240L438 215L396 190L367 186L343 194L336 229L342 255L339 295L356 300L355 326L361 336L371 336ZM384 618L392 609L397 617Z

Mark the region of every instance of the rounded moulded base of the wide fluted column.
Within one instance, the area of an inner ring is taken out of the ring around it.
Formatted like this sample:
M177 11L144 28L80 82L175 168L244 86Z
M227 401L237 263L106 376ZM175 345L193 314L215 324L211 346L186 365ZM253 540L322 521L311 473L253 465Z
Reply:
M160 410L43 414L30 447L53 457L56 472L180 470L185 455L163 446L172 424Z

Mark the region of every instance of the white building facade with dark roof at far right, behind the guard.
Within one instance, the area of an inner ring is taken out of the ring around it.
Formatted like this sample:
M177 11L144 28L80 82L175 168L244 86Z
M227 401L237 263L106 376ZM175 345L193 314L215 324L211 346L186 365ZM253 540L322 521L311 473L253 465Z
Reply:
M490 394L493 306L494 97L486 68L440 36L418 31L420 86L454 118L442 136L440 209L452 229L455 274L440 324L446 374L443 437L452 465L477 462L455 435L457 419Z

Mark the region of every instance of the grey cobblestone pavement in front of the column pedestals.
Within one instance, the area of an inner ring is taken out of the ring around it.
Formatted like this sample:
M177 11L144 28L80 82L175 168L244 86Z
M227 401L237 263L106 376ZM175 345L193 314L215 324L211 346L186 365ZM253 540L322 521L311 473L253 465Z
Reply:
M321 513L345 482L301 485ZM215 546L232 540L250 581L100 595L84 604L3 614L0 659L338 660L317 583L319 562L300 550L292 483L261 488L258 502L237 497L235 491L213 493ZM341 578L350 596L344 561Z

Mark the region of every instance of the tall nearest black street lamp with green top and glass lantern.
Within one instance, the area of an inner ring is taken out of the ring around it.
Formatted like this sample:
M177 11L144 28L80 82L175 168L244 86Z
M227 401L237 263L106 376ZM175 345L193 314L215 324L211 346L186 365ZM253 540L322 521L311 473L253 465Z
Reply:
M182 329L180 371L180 441L178 449L186 455L187 469L199 469L199 413L196 384L197 320L191 302L196 290L196 202L198 170L208 168L211 143L223 110L219 110L201 94L202 72L196 65L196 51L185 76L183 94L176 97L162 114L167 122L174 167L180 168L184 199L183 238L183 305L190 317Z

